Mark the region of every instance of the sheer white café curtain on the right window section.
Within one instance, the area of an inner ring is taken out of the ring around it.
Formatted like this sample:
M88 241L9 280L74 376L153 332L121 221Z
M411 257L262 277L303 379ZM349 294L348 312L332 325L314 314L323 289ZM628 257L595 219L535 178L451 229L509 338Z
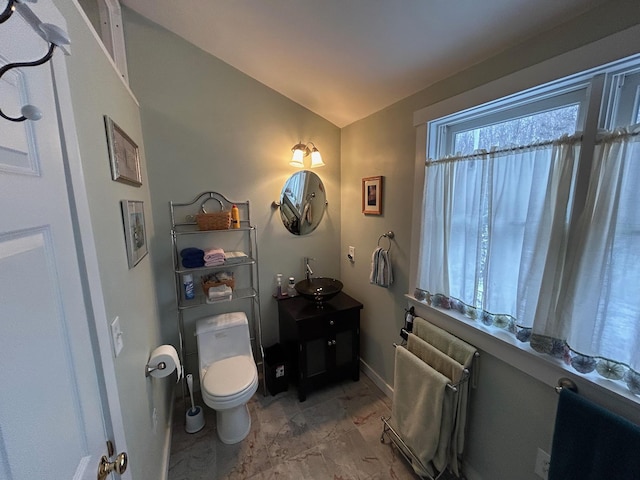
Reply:
M640 371L639 133L636 125L599 141L566 290L558 312L536 319L533 329L609 360L596 368L610 378L621 378L623 365Z

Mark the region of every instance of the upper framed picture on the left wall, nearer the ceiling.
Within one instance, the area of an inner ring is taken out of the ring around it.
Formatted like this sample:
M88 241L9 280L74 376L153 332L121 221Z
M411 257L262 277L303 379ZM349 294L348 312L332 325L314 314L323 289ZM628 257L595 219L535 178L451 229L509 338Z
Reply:
M139 187L142 185L142 174L138 145L107 115L104 116L104 124L107 129L111 178Z

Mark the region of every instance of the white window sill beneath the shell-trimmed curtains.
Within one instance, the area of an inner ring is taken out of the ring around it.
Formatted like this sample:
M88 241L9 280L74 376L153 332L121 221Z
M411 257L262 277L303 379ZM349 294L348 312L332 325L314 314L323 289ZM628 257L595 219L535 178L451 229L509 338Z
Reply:
M428 319L487 354L511 365L553 388L562 377L573 380L581 395L609 410L640 424L640 397L633 395L616 382L595 373L581 375L557 358L533 350L528 343L519 342L513 335L495 327L475 322L459 312L432 307L405 295L416 314Z

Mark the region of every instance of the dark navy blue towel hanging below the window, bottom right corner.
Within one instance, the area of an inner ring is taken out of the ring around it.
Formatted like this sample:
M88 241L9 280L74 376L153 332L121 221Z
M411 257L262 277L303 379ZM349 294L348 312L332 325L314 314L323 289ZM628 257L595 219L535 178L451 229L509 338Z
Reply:
M560 392L549 480L640 479L640 427L566 388Z

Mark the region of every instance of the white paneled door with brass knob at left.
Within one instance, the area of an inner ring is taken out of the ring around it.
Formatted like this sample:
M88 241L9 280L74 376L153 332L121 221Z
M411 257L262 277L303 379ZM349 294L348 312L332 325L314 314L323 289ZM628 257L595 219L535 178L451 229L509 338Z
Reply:
M40 3L49 16L51 2ZM0 65L38 59L47 47L18 13L0 24ZM37 122L0 118L1 480L94 480L112 434L74 232L59 82L50 62L0 79L6 115L19 117L27 103L43 114Z

